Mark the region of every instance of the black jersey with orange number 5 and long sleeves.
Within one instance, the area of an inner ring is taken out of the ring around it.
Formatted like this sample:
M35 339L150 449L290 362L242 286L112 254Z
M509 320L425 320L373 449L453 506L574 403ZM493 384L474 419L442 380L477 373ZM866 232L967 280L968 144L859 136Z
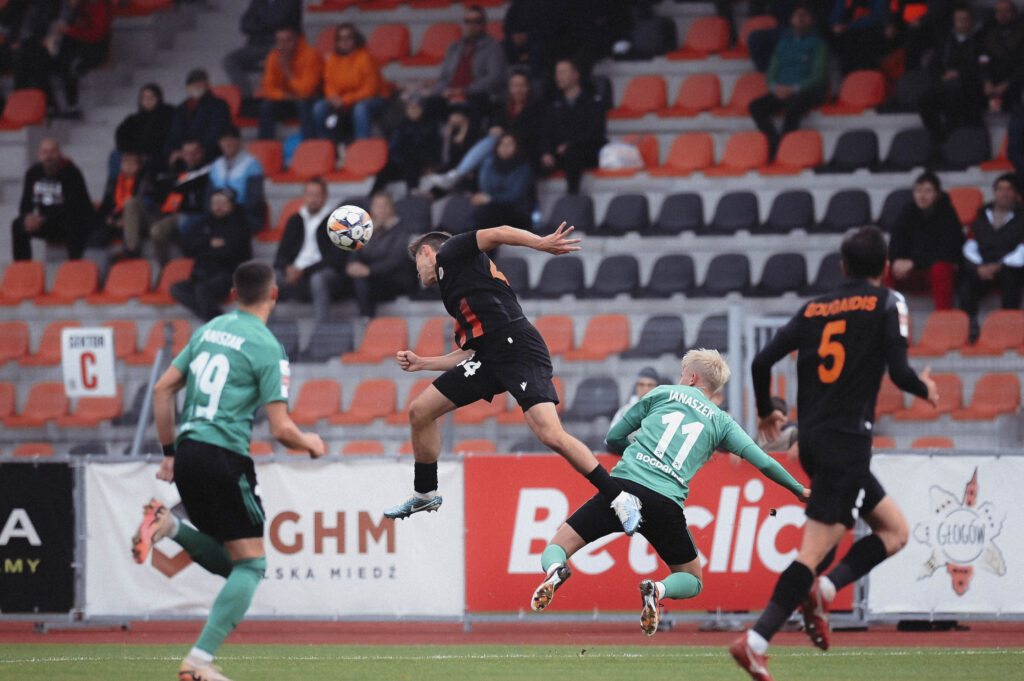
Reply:
M882 375L919 397L928 387L906 360L909 317L899 293L849 280L805 304L754 357L758 414L771 414L771 367L797 350L797 417L807 430L867 434Z

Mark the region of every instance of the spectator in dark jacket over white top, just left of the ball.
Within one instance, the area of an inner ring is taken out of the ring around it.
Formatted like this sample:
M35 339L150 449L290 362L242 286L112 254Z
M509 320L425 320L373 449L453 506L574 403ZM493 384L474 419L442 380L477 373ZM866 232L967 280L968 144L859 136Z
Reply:
M306 182L302 208L288 218L273 258L280 299L311 299L317 324L331 314L331 299L344 281L346 259L346 253L327 236L327 218L333 210L327 198L323 179Z

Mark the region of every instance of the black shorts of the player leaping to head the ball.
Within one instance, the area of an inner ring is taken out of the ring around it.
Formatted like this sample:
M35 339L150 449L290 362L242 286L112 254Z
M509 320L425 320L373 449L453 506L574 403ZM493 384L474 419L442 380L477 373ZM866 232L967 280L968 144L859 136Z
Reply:
M551 354L544 338L526 320L480 339L469 359L434 380L434 387L457 407L490 401L509 391L522 411L541 402L558 403Z

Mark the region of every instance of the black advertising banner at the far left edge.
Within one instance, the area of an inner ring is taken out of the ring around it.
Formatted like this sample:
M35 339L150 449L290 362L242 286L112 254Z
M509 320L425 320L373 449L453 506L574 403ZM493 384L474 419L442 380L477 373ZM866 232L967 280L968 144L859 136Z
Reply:
M0 612L75 605L75 509L67 464L0 464Z

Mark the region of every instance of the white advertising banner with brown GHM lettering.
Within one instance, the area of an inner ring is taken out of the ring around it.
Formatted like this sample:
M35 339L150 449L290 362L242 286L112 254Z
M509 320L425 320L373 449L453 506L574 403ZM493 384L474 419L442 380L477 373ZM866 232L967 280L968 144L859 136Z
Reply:
M266 511L266 579L259 615L461 615L464 611L462 466L442 462L437 513L384 518L409 496L412 458L389 462L257 462ZM85 610L88 615L206 614L224 581L171 540L145 564L131 537L153 497L179 502L156 464L89 464Z

